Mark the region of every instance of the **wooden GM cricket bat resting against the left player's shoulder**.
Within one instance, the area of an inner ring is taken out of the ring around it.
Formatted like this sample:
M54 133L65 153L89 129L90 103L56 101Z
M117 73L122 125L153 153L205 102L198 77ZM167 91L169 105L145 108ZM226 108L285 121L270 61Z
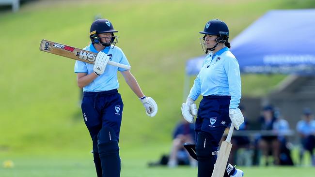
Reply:
M52 54L56 54L56 55L60 55L63 57L67 57L70 59L76 59L79 61L84 61L84 62L91 63L91 64L94 64L96 56L97 56L97 54L94 52L82 50L82 49L72 47L69 45L65 45L65 44L55 43L55 42L48 41L45 39L42 40L40 47L39 47L39 50L44 51L44 52L48 52L48 53L52 53ZM108 61L108 64L110 64L112 66L124 68L126 70L130 69L130 66L128 66L128 65L120 64L120 63L113 62L113 61Z

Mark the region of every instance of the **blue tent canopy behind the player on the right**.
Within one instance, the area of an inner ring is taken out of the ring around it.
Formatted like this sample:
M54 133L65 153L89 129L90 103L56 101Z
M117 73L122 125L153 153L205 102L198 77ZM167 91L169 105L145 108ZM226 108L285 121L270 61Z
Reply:
M315 75L315 9L272 10L231 42L242 73ZM204 56L189 59L198 74Z

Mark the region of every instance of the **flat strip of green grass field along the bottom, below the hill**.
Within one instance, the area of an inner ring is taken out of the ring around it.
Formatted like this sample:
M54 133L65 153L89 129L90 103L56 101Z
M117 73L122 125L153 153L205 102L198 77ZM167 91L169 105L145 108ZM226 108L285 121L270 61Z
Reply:
M78 158L17 158L14 168L0 168L1 177L94 177L90 159ZM314 167L239 167L244 177L311 177ZM191 167L148 167L146 159L122 159L121 177L196 177Z

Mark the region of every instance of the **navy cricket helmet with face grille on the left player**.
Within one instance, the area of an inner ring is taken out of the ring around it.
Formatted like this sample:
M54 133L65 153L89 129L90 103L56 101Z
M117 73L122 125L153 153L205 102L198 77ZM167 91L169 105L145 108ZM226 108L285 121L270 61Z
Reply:
M97 19L95 20L90 28L90 39L92 44L102 44L105 47L113 44L115 46L118 43L118 36L114 35L114 32L118 32L112 26L112 23L108 19ZM100 41L99 33L111 33L110 43L102 43Z

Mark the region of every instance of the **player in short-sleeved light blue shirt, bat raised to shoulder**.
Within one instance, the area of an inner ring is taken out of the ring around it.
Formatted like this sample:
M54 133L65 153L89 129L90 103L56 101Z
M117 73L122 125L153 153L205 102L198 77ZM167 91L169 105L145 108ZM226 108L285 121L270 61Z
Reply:
M157 114L157 103L146 97L130 70L108 65L113 61L130 66L123 51L115 46L118 37L107 19L95 20L90 29L91 44L84 50L97 53L95 64L76 61L79 88L83 88L81 103L86 127L93 142L93 156L97 177L119 177L121 160L119 157L119 132L124 104L117 91L117 72L124 76L126 83L138 96L146 114Z

